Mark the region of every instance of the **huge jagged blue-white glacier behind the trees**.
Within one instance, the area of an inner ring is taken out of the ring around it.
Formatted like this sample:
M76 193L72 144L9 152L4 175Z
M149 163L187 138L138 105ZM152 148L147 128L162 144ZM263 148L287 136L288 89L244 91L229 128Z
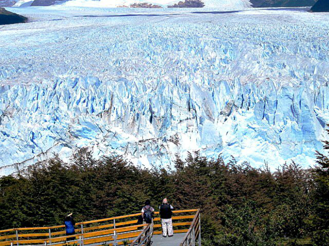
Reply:
M328 13L8 10L30 22L0 26L0 175L79 147L308 167L328 138Z

